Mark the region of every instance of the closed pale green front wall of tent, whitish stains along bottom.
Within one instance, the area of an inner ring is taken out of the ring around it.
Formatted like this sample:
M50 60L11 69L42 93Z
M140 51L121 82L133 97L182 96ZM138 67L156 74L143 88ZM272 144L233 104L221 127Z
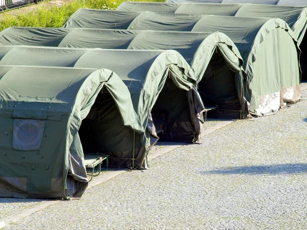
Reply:
M285 29L276 28L266 34L254 57L249 54L248 75L253 71L250 110L256 116L276 113L284 102L299 99L298 52L293 37Z

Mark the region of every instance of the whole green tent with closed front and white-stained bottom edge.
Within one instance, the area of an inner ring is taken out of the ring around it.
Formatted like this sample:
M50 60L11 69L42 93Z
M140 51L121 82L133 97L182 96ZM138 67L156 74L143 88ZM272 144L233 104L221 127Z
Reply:
M128 21L124 22L122 15ZM119 20L130 30L225 33L244 59L248 78L245 98L255 116L275 113L286 102L300 98L300 50L290 27L279 18L79 9L64 27L112 28Z

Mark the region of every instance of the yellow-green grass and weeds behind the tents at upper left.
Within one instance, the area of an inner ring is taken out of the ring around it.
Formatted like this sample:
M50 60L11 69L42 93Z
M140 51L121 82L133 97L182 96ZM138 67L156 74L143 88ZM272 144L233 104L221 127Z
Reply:
M164 0L137 0L138 2L164 2ZM124 0L75 0L62 6L38 4L26 13L1 13L0 31L8 27L62 27L79 8L115 10Z

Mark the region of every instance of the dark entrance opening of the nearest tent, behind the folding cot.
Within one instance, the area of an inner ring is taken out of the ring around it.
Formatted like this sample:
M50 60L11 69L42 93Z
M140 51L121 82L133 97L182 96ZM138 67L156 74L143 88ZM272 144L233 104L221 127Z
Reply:
M127 165L127 161L132 162L133 148L140 148L140 136L134 135L134 131L123 124L107 89L100 91L78 132L84 155L108 154L110 166Z

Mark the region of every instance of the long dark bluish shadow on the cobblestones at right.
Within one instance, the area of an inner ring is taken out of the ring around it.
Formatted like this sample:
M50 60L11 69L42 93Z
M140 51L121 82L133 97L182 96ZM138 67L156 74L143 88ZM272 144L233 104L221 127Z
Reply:
M298 174L307 173L307 164L281 164L281 165L266 165L266 166L242 166L229 167L217 170L202 171L202 175L210 174Z

